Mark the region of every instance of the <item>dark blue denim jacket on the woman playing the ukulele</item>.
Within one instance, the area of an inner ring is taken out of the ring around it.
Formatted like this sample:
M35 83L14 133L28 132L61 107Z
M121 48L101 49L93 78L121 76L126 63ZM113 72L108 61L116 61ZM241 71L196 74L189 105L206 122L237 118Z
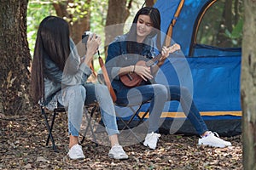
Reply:
M158 53L155 48L153 38L147 38L144 41L144 43L147 45L143 46L143 50L141 50L140 54L127 54L126 38L126 34L116 37L115 40L108 46L106 68L108 71L109 79L112 82L113 89L116 92L127 88L122 82L119 81L118 74L121 67L136 65L137 61L139 60L147 61L148 59L152 59Z

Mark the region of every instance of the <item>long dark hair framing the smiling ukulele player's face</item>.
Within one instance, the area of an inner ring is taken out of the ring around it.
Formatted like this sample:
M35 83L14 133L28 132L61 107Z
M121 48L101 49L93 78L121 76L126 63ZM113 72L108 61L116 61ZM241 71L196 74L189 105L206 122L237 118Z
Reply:
M134 17L134 20L132 21L132 26L130 31L127 33L127 52L134 54L134 50L136 50L135 47L133 47L134 42L136 41L137 38L137 20L139 15L141 14L146 14L149 16L149 18L152 20L153 22L153 31L148 35L149 37L154 37L155 35L157 35L157 39L156 39L156 45L157 48L160 50L161 49L161 42L160 42L160 12L157 8L153 8L153 7L143 7L141 8L136 16Z

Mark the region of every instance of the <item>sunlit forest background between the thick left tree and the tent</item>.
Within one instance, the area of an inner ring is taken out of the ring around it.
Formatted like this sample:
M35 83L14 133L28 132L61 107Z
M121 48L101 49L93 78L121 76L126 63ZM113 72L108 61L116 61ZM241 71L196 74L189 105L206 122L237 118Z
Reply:
M105 27L123 23L123 26L119 30L115 30L114 35L121 35L127 32L137 10L142 8L143 5L152 6L154 0L147 1L147 4L143 3L145 2L142 0L130 0L129 2L108 0L29 1L27 6L27 41L29 43L30 54L33 54L38 26L41 20L48 15L56 15L67 20L71 28L71 37L76 43L81 41L84 31L92 31L102 37L103 50L100 52L104 59L105 53L103 46L113 40L113 37L106 37L108 32L106 32ZM108 10L109 5L110 9ZM120 11L120 14L117 14L118 11ZM98 62L94 62L94 67L96 71L99 70L100 66Z

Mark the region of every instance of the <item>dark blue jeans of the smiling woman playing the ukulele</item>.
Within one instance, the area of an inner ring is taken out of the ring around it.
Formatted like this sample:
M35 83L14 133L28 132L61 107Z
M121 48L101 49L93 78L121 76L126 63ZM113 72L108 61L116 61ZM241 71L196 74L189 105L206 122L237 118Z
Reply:
M187 88L179 86L165 86L162 84L142 85L135 88L125 88L117 92L116 103L120 105L133 105L150 100L148 133L156 132L159 127L160 116L166 101L177 100L180 102L183 112L195 127L198 134L205 133L206 123L189 94Z

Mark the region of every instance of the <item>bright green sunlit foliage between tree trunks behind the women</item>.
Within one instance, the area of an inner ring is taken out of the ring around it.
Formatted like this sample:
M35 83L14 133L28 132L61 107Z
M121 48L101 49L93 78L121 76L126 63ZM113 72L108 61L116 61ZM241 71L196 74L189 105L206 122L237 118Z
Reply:
M48 15L56 15L53 2L67 3L66 0L33 0L29 1L27 7L27 40L31 54L33 54L33 48L35 46L38 26L41 20ZM73 22L79 18L84 17L90 10L90 31L96 32L102 37L102 45L105 41L104 26L106 24L108 13L108 0L94 0L90 1L90 4L86 3L86 0L74 0L73 3L67 4L67 11L72 15L72 20L65 18L68 22ZM131 22L133 16L137 13L138 8L141 8L143 1L135 0L132 3L131 16L128 18L128 22ZM88 9L88 10L87 10ZM104 58L103 47L100 48L102 58ZM95 62L95 69L99 69L98 62Z

